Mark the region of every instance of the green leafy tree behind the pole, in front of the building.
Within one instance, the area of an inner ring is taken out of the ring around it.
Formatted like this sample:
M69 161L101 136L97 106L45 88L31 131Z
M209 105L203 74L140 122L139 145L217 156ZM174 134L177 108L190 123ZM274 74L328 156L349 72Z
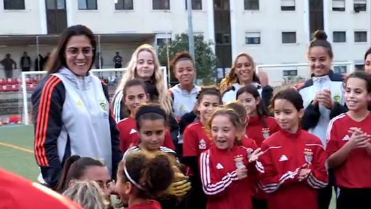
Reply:
M203 85L216 83L216 66L218 65L217 58L212 52L212 43L203 40L203 36L194 36L194 53L196 64L196 79L201 79ZM168 43L169 60L171 60L177 52L188 51L188 34L176 34L175 40ZM168 66L168 56L166 50L166 42L161 43L158 49L159 62L162 66ZM175 81L173 75L171 80Z

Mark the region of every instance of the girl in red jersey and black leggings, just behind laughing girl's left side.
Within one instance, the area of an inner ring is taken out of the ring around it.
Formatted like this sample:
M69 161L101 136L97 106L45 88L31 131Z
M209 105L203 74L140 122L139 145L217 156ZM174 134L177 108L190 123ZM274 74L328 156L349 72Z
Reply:
M189 124L183 132L183 163L190 168L192 189L187 197L187 208L205 208L206 200L199 177L199 156L210 148L212 140L205 131L212 111L221 104L221 94L216 87L202 87L196 97L195 111L199 120Z

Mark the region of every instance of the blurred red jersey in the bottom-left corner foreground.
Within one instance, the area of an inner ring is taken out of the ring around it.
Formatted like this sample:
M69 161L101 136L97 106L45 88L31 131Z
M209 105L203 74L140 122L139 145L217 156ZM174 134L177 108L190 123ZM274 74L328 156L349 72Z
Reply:
M0 208L81 209L62 195L0 169Z

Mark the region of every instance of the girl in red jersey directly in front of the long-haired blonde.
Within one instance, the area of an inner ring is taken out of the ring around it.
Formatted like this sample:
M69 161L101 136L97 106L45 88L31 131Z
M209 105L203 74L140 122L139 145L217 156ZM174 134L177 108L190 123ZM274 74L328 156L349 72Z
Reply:
M127 108L126 115L128 118L120 120L117 123L117 129L120 131L120 149L122 153L130 148L131 146L139 143L139 137L135 126L135 113L142 103L148 102L149 95L146 91L146 85L140 80L129 80L124 86L123 90L124 104ZM167 131L164 140L164 146L175 150L175 146L172 143L170 132Z

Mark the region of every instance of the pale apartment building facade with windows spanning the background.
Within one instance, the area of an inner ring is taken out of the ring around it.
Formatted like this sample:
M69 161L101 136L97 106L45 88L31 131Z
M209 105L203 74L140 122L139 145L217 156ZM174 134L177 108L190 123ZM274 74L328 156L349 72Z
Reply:
M156 46L188 32L186 1L1 0L0 58L10 53L19 63L28 52L34 61L52 51L64 28L82 24L97 34L104 68L113 67L115 52L125 65L139 44ZM221 68L240 52L258 64L306 63L315 30L328 34L335 62L362 67L370 10L371 0L192 0L194 33L214 43Z

